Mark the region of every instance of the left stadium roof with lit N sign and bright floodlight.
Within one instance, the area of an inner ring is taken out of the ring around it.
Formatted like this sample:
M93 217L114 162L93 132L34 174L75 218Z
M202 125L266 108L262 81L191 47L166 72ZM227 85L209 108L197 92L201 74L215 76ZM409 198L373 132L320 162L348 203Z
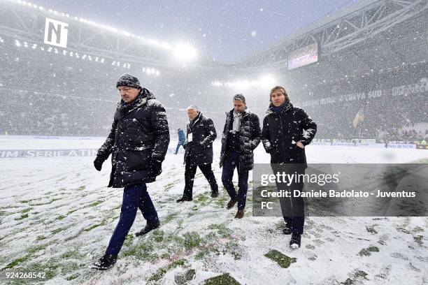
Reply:
M28 1L0 0L0 19L3 36L41 44L46 43L46 31L50 29L52 45L55 45L52 38L58 40L60 37L58 46L73 52L96 52L99 57L117 61L175 67L190 64L186 61L197 57L197 51L189 43L166 43L137 36ZM204 61L204 57L201 60Z

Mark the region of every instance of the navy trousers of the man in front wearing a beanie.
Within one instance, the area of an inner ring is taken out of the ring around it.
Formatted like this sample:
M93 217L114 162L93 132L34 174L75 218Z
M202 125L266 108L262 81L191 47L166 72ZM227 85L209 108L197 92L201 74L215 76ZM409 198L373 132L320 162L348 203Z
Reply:
M119 222L110 238L106 254L119 254L129 229L134 224L138 209L141 210L148 224L155 224L159 221L155 205L150 199L145 184L131 185L124 188Z

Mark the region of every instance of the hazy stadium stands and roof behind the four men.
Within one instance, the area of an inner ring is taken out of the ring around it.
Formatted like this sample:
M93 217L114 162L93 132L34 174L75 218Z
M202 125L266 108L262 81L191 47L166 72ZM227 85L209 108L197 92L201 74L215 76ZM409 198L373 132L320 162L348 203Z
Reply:
M315 119L319 138L373 138L383 131L404 138L401 127L428 117L426 0L362 1L239 64L202 57L186 67L171 61L165 48L139 43L117 49L111 43L135 38L22 3L0 1L0 132L104 136L122 73L136 75L162 101L171 130L185 126L191 104L220 130L236 93L245 94L262 119L273 85L285 86L292 103ZM45 43L48 16L76 25L81 38L71 33L66 48ZM289 54L311 39L317 42L317 61L289 71ZM211 85L266 72L276 78L269 85ZM357 114L364 119L354 126Z

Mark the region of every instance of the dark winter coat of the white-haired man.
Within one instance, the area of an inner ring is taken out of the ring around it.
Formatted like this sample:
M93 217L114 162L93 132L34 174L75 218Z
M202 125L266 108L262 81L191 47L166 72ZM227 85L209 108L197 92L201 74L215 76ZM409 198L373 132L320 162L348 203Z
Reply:
M189 133L192 141L189 142ZM193 122L187 124L184 163L197 165L213 163L213 141L217 138L213 120L204 117L201 112Z

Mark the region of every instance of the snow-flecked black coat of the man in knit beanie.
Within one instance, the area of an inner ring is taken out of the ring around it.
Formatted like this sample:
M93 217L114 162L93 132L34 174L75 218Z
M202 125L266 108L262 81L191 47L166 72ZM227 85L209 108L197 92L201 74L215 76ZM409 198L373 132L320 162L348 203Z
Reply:
M155 181L148 175L150 162L163 161L168 145L166 112L152 93L142 89L131 103L120 101L110 134L97 154L103 161L112 154L108 187Z

